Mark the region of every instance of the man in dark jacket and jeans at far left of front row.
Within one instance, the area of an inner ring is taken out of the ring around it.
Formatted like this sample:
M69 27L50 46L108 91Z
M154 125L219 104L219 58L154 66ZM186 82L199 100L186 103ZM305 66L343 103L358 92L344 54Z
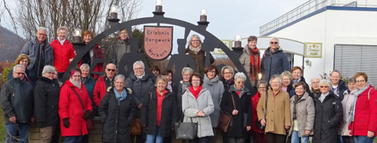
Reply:
M25 67L17 64L13 77L1 87L1 109L4 110L6 142L28 142L29 123L33 118L33 86L25 79ZM21 139L16 137L20 136Z

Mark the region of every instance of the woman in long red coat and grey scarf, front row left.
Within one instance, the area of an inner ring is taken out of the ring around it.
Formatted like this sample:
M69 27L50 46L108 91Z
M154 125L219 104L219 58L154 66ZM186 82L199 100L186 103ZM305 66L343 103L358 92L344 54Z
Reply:
M75 91L73 91L75 90ZM83 101L84 109L78 99ZM83 135L87 135L85 119L92 118L92 102L87 90L81 82L81 71L78 68L70 70L70 79L60 89L59 115L61 136L64 142L82 142Z

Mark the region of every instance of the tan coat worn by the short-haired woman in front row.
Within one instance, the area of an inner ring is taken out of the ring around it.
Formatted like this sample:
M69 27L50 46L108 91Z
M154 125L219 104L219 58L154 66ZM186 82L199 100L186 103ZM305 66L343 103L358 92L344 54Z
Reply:
M265 118L265 97L265 93L262 93L257 105L258 120ZM291 126L290 95L287 92L280 89L273 96L271 89L268 90L266 122L265 132L287 134L284 127L285 125Z

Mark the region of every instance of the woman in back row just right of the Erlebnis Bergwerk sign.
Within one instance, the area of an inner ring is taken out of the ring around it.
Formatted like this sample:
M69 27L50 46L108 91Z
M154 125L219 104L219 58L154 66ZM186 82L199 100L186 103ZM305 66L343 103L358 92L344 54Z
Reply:
M186 49L186 55L191 55L193 61L196 64L196 72L203 73L206 58L210 58L211 64L215 62L211 53L204 52L201 48L201 38L198 35L191 35L190 42L188 48ZM208 55L207 55L208 54ZM208 56L208 57L207 57Z

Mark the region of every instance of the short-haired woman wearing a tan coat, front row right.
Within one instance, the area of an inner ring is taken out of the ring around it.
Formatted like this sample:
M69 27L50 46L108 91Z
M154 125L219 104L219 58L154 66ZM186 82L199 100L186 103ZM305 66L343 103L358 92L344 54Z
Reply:
M285 135L291 126L290 95L282 91L282 79L274 75L270 79L270 86L266 93L262 93L257 105L258 120L265 125L267 142L285 142ZM267 96L267 109L266 109ZM265 110L267 115L265 116Z

